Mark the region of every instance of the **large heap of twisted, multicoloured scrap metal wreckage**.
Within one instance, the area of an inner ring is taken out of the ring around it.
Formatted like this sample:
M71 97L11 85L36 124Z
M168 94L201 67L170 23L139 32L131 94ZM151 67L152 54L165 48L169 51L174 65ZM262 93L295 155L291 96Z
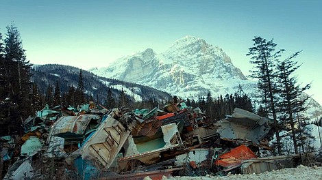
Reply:
M133 111L98 107L46 106L26 119L20 157L4 179L35 177L30 157L36 154L64 160L82 179L260 173L297 157L258 157L259 148L270 149L273 121L240 108L211 121L184 103ZM1 141L12 145L10 136ZM2 161L12 157L8 149L3 146Z

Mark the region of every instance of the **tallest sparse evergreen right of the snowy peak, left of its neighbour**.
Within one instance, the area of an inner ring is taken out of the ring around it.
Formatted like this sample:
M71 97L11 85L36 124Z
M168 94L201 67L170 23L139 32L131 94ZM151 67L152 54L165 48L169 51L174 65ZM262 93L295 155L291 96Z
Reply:
M278 57L284 50L275 51L273 40L267 41L262 37L253 39L253 47L249 48L247 56L251 56L254 70L251 70L251 78L258 78L258 89L262 92L264 108L271 111L274 120L275 135L277 140L277 152L282 155L282 147L280 142L280 130L277 121L276 98L275 98L275 72L274 67Z

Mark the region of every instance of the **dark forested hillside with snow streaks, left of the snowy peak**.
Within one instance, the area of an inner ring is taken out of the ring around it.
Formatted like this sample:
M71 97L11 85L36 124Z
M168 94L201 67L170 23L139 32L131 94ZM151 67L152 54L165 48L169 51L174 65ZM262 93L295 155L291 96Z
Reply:
M86 101L91 100L106 106L116 106L118 104L107 104L108 91L112 92L114 100L119 100L123 91L129 102L168 101L171 96L168 93L158 91L151 87L136 85L130 82L123 82L110 78L96 76L90 72L80 70L77 67L68 65L34 65L32 68L32 81L38 85L40 93L46 96L47 93L55 93L55 89L60 88L62 97L70 91L76 91L79 87L80 72L82 71L82 86ZM47 94L48 96L48 94ZM139 97L137 97L139 96ZM138 100L136 99L138 98ZM58 104L55 104L58 105ZM73 105L73 103L69 103ZM74 104L74 106L77 103ZM125 104L129 106L129 104Z

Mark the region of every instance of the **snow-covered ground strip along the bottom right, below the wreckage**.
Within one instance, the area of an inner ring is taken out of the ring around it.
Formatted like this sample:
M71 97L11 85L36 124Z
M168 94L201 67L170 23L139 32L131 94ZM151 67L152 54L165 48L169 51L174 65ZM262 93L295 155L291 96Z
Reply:
M146 177L145 179L149 179ZM166 179L164 177L163 179ZM303 165L297 166L297 168L284 168L280 170L273 170L271 172L264 172L262 174L250 174L250 175L227 175L225 177L218 176L205 176L205 177L170 177L169 179L183 179L183 180L212 180L212 179L285 179L285 180L293 180L293 179L322 179L322 167L312 166L307 167Z

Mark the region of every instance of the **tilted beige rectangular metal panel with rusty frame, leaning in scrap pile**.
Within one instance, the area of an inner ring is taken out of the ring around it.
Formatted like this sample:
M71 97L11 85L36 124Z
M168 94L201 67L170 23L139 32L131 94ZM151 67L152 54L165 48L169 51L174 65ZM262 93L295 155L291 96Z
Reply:
M95 134L85 142L80 154L84 160L96 162L107 169L114 162L130 133L131 130L126 130L122 123L108 116Z

